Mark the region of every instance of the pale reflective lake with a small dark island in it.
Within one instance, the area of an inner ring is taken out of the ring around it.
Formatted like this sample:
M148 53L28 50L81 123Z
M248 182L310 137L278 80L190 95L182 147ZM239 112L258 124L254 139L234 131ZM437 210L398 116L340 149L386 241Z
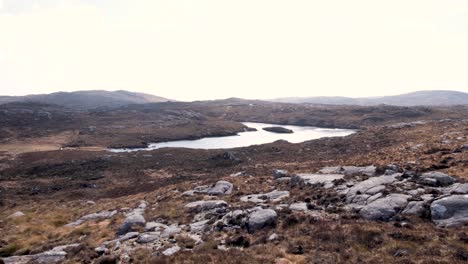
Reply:
M355 133L351 129L318 128L309 126L289 126L266 123L243 122L244 125L256 128L257 131L241 132L235 136L206 137L197 140L178 140L161 143L151 143L147 148L138 149L111 149L112 152L131 152L139 150L153 150L160 148L191 148L191 149L227 149L247 147L271 143L277 140L286 140L291 143L323 137L344 137ZM294 131L292 134L279 134L263 130L264 127L281 126Z

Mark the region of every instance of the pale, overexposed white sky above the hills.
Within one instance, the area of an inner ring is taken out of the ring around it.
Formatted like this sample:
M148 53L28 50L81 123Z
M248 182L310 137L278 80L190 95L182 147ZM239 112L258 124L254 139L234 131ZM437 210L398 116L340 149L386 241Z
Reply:
M468 92L466 0L0 0L0 94Z

